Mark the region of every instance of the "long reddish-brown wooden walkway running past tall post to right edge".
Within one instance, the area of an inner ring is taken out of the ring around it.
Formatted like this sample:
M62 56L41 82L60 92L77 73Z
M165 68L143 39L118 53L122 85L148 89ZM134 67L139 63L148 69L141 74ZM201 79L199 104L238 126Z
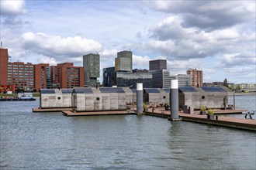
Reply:
M157 116L157 117L171 117L170 110L165 110L163 112L162 108L155 108L154 111L149 109L146 113L150 116ZM216 115L217 116L217 115ZM182 118L182 121L192 121L201 124L213 124L223 127L229 128L238 128L250 131L256 131L256 120L250 119L243 119L237 117L221 117L217 116L218 120L209 120L207 119L207 115L200 115L200 114L184 114L182 112L179 113L179 117Z

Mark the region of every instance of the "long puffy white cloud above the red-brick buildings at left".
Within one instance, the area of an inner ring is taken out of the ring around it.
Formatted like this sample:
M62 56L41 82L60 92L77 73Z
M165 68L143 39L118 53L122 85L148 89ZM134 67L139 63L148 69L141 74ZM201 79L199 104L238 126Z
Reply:
M93 39L81 36L49 36L45 33L26 32L22 34L22 46L33 53L50 57L77 57L102 50L102 45ZM58 59L59 60L59 59Z

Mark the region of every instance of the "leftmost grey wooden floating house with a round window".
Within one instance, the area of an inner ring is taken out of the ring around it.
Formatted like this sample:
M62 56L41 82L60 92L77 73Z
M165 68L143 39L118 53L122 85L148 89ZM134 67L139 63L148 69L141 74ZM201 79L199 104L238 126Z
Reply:
M66 108L71 105L72 89L41 89L40 108Z

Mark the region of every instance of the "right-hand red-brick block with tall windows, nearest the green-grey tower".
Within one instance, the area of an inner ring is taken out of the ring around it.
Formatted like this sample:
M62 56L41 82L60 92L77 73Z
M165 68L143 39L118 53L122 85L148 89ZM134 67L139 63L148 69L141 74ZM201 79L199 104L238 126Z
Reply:
M52 87L84 87L84 72L84 67L73 66L73 63L59 63L57 66L50 66Z

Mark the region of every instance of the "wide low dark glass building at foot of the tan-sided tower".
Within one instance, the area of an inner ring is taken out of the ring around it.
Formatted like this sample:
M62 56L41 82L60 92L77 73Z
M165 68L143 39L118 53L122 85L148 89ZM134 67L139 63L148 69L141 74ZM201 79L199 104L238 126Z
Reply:
M143 83L144 88L152 87L151 73L116 72L116 86L136 88L137 83Z

